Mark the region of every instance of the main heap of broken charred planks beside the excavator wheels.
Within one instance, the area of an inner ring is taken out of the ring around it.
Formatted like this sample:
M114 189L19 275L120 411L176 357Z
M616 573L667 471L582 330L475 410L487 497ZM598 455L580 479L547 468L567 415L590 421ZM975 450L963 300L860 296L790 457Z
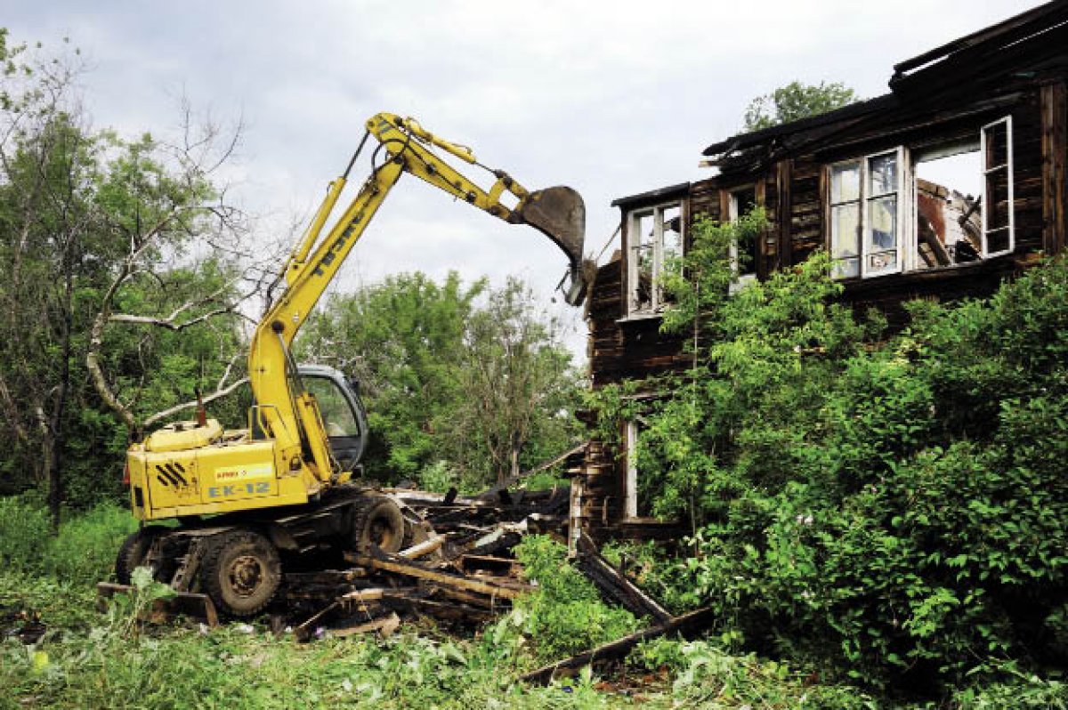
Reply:
M459 498L394 489L417 534L396 554L373 549L346 553L342 570L285 575L287 612L299 641L329 633L392 633L402 617L429 616L451 626L481 625L531 590L513 548L531 533L559 532L567 492L562 489Z

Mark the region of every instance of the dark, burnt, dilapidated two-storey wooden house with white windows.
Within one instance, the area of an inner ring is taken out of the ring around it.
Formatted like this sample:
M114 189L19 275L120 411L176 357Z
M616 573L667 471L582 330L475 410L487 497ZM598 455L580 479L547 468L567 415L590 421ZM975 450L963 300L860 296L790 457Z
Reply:
M698 215L763 205L770 228L735 244L739 283L831 255L844 298L891 324L915 298L991 293L1064 251L1068 220L1068 2L1058 0L894 67L890 92L704 149L717 174L621 198L622 241L590 294L593 386L688 362L660 332L668 258ZM639 500L627 423L617 451L594 442L572 486L572 530L671 534Z

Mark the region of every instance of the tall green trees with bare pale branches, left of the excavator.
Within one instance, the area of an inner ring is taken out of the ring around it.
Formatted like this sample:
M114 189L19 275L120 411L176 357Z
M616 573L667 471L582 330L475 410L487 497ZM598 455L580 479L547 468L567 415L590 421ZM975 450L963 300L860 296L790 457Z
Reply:
M119 492L124 424L226 369L239 273L216 248L231 215L205 204L206 143L89 131L76 53L0 32L0 486L47 491L56 523Z

